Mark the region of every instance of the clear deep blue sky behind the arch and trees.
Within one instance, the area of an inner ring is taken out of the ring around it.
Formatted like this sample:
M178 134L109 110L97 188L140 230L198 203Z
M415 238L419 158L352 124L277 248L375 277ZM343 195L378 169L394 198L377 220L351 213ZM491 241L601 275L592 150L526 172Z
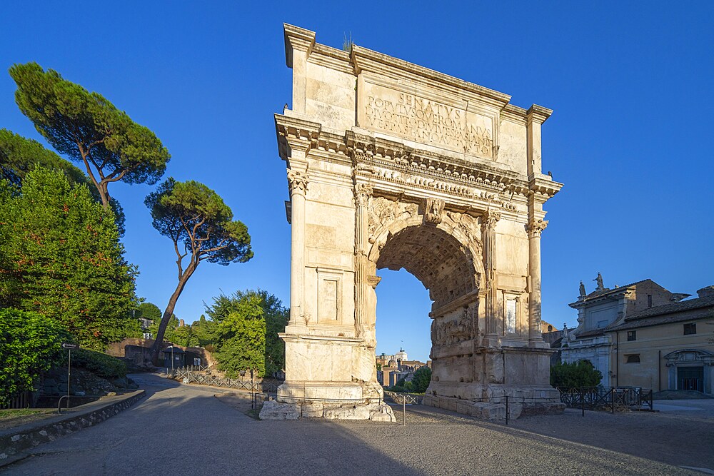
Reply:
M35 6L31 6L34 3ZM11 64L36 61L98 91L169 148L168 175L216 190L253 237L255 258L203 263L176 315L219 290L264 288L289 302L290 229L273 113L291 103L283 22L353 41L553 108L543 169L543 318L575 324L588 290L652 278L674 292L714 284L714 2L10 2L0 16L0 128L41 140L14 104ZM438 7L435 7L438 5ZM163 308L171 242L151 228L149 186L116 183L138 293ZM405 271L378 287L378 352L428 357L428 293Z

